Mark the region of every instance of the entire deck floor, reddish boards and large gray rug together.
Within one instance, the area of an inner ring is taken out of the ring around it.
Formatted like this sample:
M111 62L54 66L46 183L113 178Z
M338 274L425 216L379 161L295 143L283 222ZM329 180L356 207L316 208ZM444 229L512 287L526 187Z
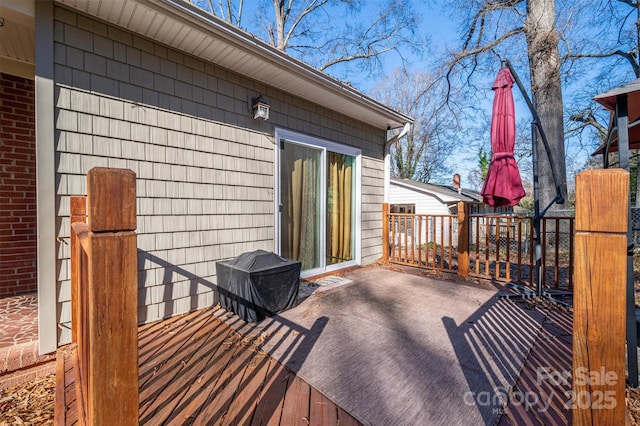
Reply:
M347 273L257 324L217 308L141 326L140 424L571 423L570 310L408 271Z

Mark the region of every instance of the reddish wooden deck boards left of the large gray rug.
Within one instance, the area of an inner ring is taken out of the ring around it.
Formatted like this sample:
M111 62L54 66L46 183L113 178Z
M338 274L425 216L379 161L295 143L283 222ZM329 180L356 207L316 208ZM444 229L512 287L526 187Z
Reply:
M139 328L140 424L359 425L205 309ZM58 356L56 423L78 423L72 348Z

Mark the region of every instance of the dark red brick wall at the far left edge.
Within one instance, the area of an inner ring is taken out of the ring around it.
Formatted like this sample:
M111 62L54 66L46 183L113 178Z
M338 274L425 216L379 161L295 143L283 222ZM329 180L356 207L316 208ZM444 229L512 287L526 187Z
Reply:
M0 296L37 290L34 82L0 73Z

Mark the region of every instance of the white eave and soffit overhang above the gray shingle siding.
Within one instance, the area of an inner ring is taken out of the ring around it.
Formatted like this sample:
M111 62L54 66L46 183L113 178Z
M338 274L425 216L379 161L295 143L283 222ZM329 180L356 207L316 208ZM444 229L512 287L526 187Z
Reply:
M56 2L376 128L413 123L412 118L186 1Z

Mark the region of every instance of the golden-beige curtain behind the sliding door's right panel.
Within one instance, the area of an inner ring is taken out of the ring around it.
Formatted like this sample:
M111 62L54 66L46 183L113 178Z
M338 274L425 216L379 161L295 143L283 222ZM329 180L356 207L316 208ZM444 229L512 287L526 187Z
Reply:
M353 259L353 164L351 156L328 153L327 264Z

